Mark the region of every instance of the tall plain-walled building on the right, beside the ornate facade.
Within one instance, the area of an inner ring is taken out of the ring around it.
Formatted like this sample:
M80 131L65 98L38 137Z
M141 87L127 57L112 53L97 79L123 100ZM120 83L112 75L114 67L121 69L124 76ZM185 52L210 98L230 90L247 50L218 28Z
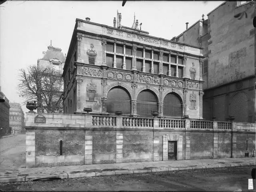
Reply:
M234 16L246 12L242 18ZM204 48L202 60L203 117L236 122L256 120L254 7L226 1L172 38Z

